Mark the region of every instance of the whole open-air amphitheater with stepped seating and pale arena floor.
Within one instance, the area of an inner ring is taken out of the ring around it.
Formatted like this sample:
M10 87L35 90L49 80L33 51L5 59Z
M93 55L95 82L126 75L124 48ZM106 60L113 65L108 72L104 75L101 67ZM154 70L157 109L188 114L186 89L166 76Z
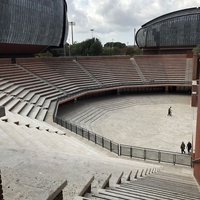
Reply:
M192 71L186 65L190 62L183 55L176 55L176 61L174 55L157 56L167 64L156 69L155 57L151 63L147 56L148 64L145 56L143 63L129 56L16 58L15 63L1 59L4 199L53 199L59 189L63 199L199 199L192 168L184 162L118 156L54 123L59 97L57 119L115 143L190 158L179 153L182 140L192 141L196 124L189 94ZM174 76L177 71L179 78ZM176 87L175 92L166 91L166 85ZM167 116L169 106L172 117ZM81 197L88 184L92 193L86 190Z

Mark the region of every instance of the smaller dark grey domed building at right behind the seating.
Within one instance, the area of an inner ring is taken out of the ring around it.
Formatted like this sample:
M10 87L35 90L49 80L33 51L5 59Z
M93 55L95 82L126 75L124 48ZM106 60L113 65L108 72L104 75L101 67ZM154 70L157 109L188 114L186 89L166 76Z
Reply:
M191 50L200 44L200 8L184 9L155 18L142 25L135 40L145 51Z

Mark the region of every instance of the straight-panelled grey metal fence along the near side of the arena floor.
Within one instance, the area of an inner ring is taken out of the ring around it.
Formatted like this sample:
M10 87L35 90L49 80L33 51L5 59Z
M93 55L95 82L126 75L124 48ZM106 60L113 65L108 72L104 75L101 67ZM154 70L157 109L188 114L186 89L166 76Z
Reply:
M192 158L190 155L170 151L162 151L158 149L118 144L96 133L93 133L92 131L84 129L76 124L64 121L57 116L54 116L54 122L76 133L77 135L80 135L81 137L86 138L87 140L101 146L102 148L105 148L110 152L117 154L118 156L166 162L172 163L174 165L178 164L192 166Z

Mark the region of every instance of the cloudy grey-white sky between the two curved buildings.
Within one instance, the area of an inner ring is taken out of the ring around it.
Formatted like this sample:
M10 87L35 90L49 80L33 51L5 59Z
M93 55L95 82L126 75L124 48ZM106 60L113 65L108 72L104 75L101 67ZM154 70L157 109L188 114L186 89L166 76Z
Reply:
M82 42L97 37L102 44L134 44L136 31L163 14L200 7L200 0L66 0L68 20L75 22L73 38ZM93 31L91 31L93 29ZM67 42L72 42L71 26Z

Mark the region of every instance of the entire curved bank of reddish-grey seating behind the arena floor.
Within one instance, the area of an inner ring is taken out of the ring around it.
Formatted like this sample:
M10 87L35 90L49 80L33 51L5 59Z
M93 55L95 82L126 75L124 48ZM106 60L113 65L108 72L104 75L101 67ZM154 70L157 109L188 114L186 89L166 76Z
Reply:
M51 101L84 88L144 85L145 81L184 84L191 80L185 55L134 59L137 66L129 56L17 58L16 64L4 59L0 62L0 104L9 111L44 119Z

